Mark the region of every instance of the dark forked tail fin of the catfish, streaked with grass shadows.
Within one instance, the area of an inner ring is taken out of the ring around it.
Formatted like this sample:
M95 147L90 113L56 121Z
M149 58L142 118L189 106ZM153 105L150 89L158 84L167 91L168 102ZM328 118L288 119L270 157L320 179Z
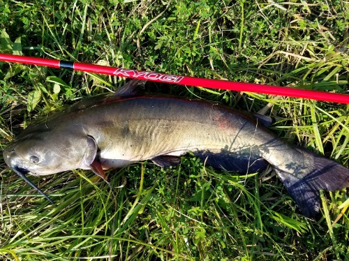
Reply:
M313 217L320 210L319 190L336 191L347 188L349 169L310 151L297 150L304 155L302 170L295 170L295 173L290 174L279 167L275 169L304 216Z

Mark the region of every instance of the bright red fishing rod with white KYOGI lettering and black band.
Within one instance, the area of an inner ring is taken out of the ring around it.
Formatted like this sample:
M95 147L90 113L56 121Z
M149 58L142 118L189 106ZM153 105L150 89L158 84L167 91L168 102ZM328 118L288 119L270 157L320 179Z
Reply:
M348 94L335 94L325 91L295 89L290 87L276 87L272 85L251 84L246 82L231 82L227 80L213 80L191 76L169 75L163 73L145 72L141 70L115 68L110 66L99 66L95 64L84 64L73 61L59 61L54 59L25 57L13 54L0 54L0 61L10 61L21 64L34 64L37 66L48 66L54 68L68 68L73 70L80 70L82 72L100 73L105 75L135 78L153 82L166 82L171 84L191 85L211 89L226 89L231 91L248 91L258 94L272 94L349 104Z

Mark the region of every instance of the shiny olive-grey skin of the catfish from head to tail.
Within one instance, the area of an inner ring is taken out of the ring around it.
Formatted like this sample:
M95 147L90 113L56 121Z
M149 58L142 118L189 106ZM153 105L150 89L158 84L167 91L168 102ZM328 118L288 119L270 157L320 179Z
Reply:
M227 155L232 161L252 158L272 165L305 216L318 213L319 189L349 186L348 168L283 142L244 113L198 100L124 93L78 103L29 126L3 158L14 170L37 176L91 170L96 161L103 169L152 158L157 163L161 156L188 151L209 153L216 161Z

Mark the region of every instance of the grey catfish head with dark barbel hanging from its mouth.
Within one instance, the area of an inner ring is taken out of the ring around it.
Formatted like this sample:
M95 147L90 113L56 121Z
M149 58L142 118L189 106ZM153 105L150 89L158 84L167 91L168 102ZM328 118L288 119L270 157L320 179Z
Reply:
M42 176L77 168L91 170L98 147L94 138L84 133L40 129L24 130L18 140L3 151L3 158L14 172L50 200L26 174Z

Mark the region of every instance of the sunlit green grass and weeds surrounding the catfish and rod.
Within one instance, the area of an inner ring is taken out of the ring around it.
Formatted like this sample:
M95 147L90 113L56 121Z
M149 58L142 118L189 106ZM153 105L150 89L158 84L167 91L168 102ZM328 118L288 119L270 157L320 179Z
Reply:
M0 52L348 90L346 1L121 2L4 0ZM4 149L31 121L124 79L1 63L0 84ZM261 110L279 119L270 129L280 137L348 167L348 105L165 84L147 89ZM348 200L339 209L348 191L323 193L323 216L309 219L273 171L239 176L185 156L168 170L150 162L110 170L110 186L81 170L31 177L52 206L2 155L0 166L2 260L348 260Z

